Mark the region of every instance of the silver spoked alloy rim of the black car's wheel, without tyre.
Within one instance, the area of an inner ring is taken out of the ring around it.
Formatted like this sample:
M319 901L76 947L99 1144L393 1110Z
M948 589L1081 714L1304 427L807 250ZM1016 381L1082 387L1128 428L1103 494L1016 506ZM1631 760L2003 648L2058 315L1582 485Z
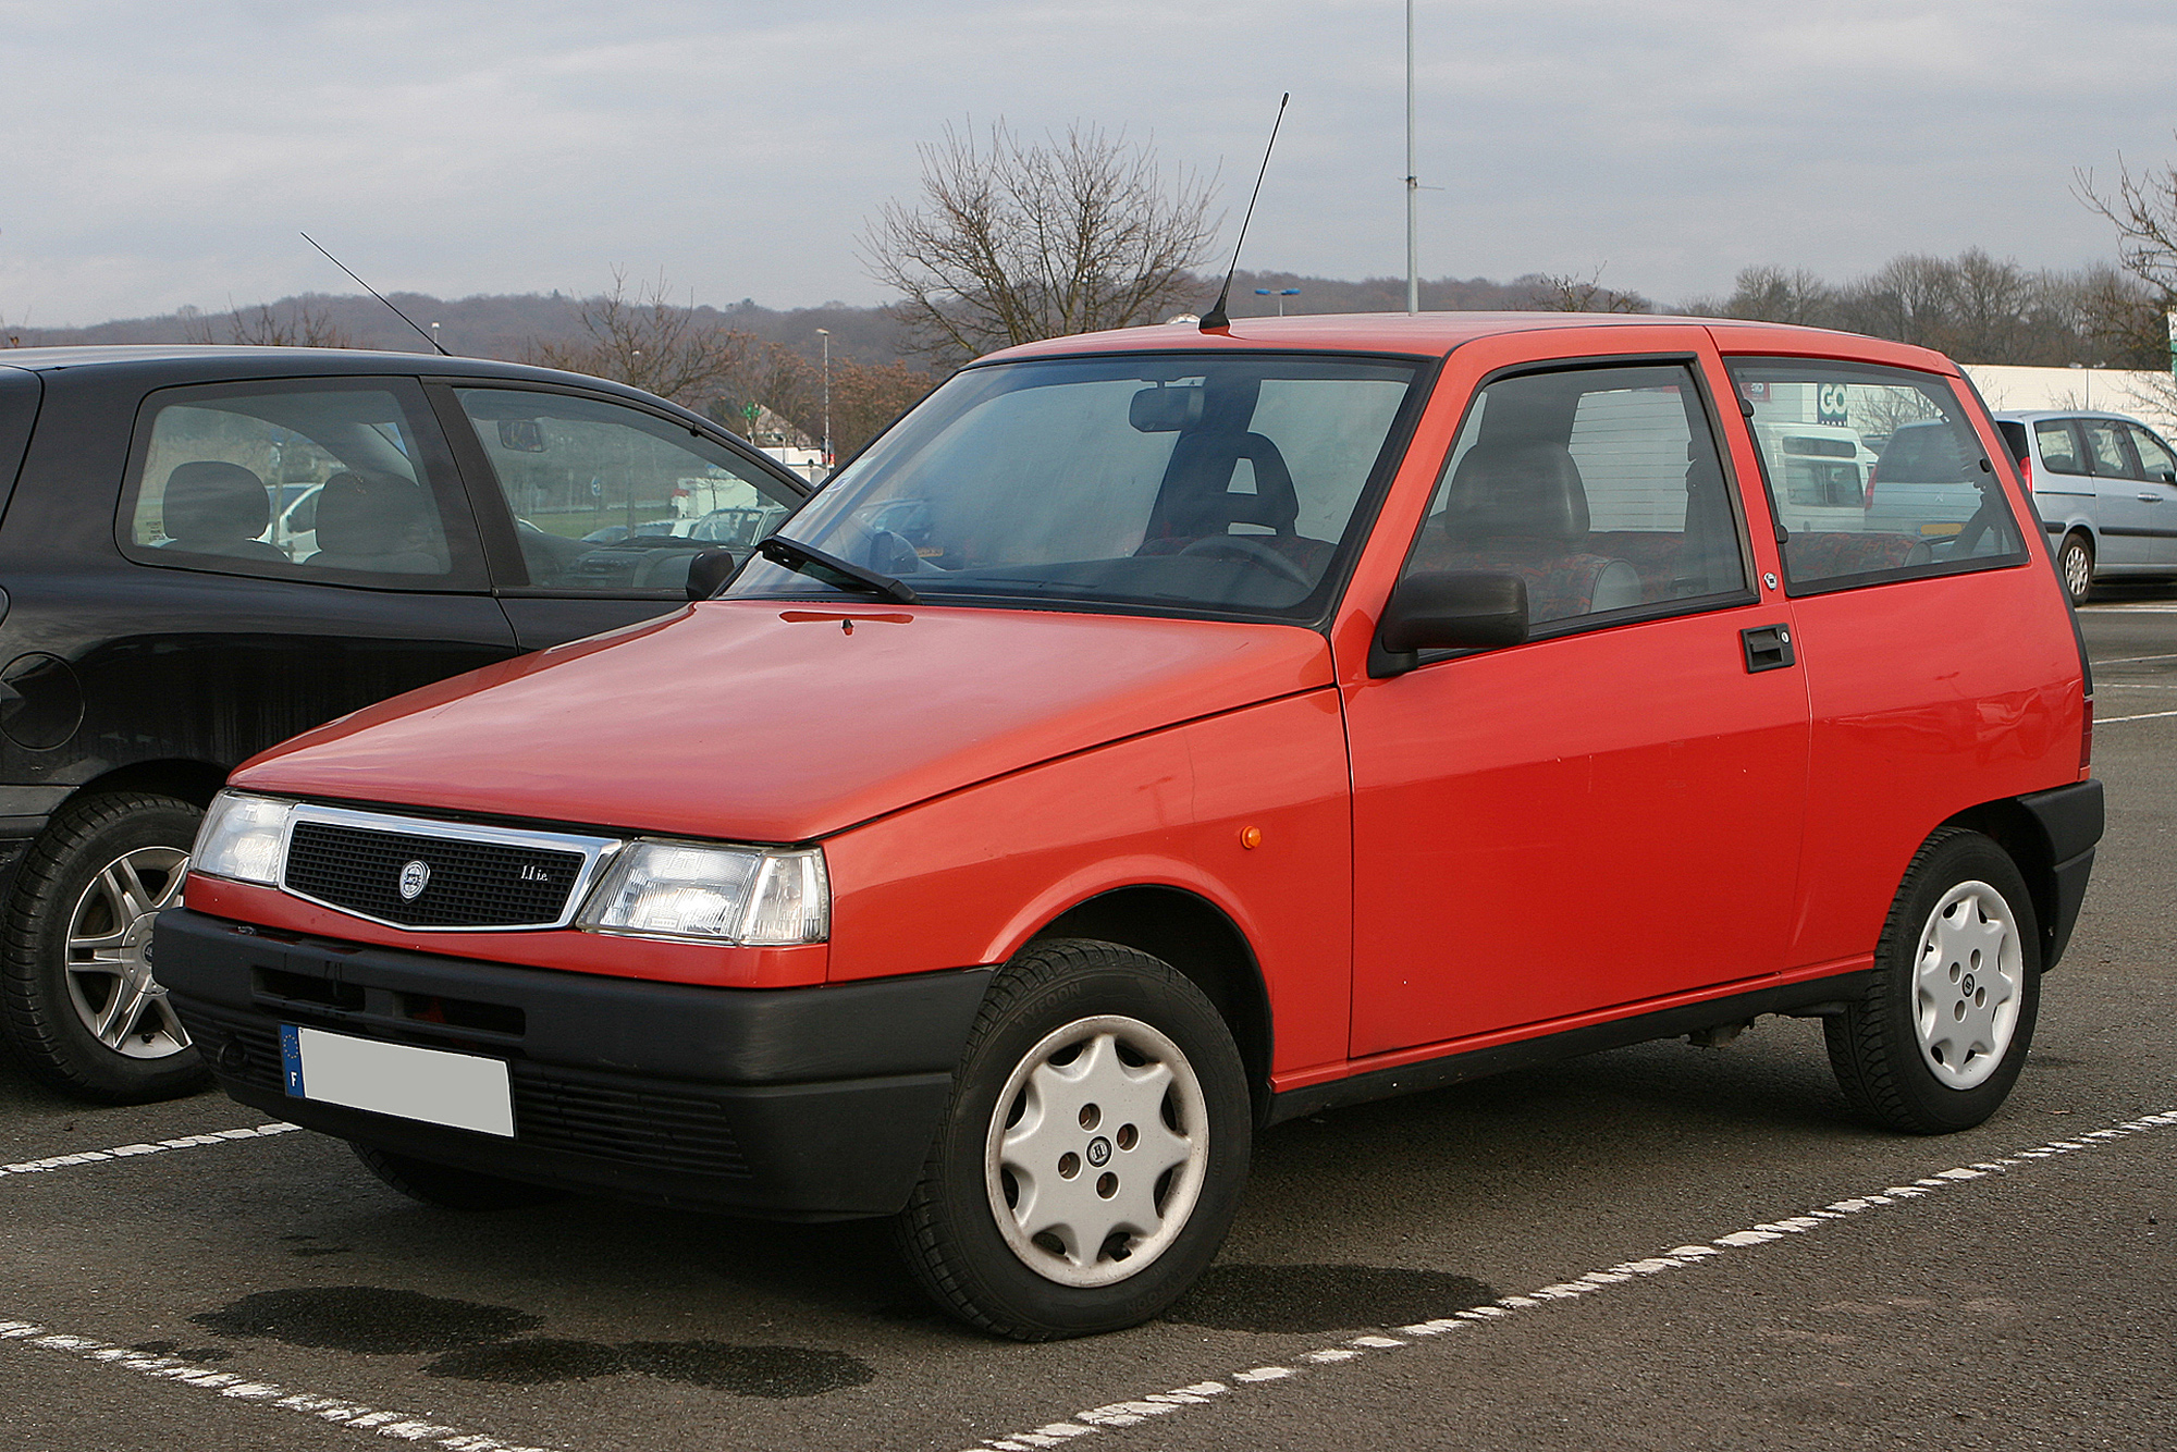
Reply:
M67 914L67 1001L83 1028L126 1058L189 1047L165 988L150 975L152 919L181 903L189 853L137 847L107 862Z

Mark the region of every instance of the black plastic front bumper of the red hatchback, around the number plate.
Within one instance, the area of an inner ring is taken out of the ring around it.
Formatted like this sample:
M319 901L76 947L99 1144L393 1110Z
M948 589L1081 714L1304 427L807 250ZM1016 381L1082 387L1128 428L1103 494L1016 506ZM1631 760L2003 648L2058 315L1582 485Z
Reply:
M991 969L703 988L270 934L176 908L159 982L220 1086L292 1123L485 1173L782 1217L890 1215ZM294 1099L283 1023L507 1062L514 1139Z

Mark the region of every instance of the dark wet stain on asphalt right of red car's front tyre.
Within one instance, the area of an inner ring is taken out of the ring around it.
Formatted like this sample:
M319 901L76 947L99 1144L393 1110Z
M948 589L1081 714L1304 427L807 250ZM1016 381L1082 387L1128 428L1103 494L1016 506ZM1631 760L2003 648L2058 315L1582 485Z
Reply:
M1213 1265L1165 1313L1182 1326L1260 1334L1411 1326L1493 1302L1469 1276L1376 1265Z

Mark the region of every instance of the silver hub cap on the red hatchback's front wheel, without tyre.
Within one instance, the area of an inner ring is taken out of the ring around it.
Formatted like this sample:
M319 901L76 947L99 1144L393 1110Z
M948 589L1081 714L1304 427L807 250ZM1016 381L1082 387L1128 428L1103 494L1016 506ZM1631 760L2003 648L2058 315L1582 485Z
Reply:
M1208 1171L1208 1108L1171 1038L1139 1019L1075 1019L1006 1080L984 1189L1006 1245L1067 1287L1134 1276L1178 1239Z

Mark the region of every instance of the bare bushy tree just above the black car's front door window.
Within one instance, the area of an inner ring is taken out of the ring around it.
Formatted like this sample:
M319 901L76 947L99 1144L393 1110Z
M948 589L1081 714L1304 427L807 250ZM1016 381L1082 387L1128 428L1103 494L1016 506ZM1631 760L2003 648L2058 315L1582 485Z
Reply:
M664 274L629 296L620 268L612 292L586 298L579 318L581 342L531 342L525 361L629 383L690 409L727 392L755 342L714 313L673 303Z

